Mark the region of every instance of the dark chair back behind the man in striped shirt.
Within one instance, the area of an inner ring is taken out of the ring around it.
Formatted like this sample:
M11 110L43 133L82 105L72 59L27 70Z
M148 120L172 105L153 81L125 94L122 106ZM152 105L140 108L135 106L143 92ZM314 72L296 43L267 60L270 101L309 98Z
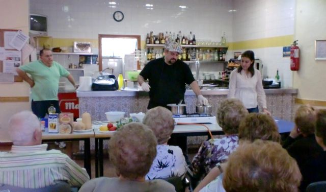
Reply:
M15 187L11 185L0 184L0 190L7 190L7 189L15 192L57 192L57 191L70 192L71 191L70 185L65 181L61 181L55 185L42 187L42 188L21 188L21 187Z

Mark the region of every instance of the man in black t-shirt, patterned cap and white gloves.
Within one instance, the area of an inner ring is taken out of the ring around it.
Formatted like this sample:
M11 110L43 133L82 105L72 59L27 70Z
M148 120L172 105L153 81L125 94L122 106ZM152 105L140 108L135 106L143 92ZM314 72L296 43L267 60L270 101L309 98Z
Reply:
M138 76L138 83L144 91L149 91L148 109L167 104L184 102L185 84L197 95L198 103L206 105L207 99L201 94L197 81L186 63L178 60L181 46L170 42L165 49L165 57L147 63ZM145 80L148 79L148 84Z

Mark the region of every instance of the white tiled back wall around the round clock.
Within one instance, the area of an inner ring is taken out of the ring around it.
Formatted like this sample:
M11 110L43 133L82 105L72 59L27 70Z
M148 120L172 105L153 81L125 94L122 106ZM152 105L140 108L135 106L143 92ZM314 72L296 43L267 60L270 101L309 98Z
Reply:
M98 34L141 35L171 31L196 39L220 41L223 32L232 41L232 1L229 0L30 0L30 12L48 16L48 35L55 38L98 38ZM146 9L152 4L153 9ZM186 6L181 10L179 6ZM116 22L113 13L120 10L124 20Z

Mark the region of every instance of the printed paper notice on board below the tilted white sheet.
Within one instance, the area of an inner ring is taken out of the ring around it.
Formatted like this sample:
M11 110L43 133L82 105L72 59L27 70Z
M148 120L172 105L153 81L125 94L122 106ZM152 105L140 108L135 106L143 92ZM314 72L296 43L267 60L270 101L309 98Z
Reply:
M5 51L3 61L3 73L13 73L17 75L16 68L21 65L21 51Z

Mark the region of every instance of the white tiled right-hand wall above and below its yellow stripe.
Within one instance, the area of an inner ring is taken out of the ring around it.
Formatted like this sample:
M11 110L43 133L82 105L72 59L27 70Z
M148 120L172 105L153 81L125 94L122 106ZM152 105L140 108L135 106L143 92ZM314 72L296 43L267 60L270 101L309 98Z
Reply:
M233 40L244 41L294 34L295 0L235 0L233 15ZM246 50L234 50L234 52ZM280 72L282 87L292 87L290 58L283 57L283 47L254 49L256 58L262 60L264 76L274 78Z

